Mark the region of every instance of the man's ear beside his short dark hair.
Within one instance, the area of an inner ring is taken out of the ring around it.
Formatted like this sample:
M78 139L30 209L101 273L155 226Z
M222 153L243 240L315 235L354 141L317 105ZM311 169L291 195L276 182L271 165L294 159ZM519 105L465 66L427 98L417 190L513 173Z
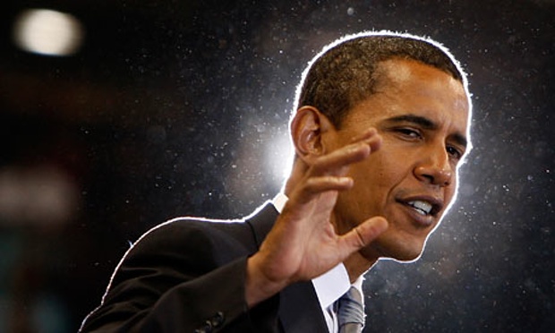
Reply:
M291 121L291 136L295 153L305 162L327 152L323 136L335 129L326 115L316 107L305 106L297 110Z

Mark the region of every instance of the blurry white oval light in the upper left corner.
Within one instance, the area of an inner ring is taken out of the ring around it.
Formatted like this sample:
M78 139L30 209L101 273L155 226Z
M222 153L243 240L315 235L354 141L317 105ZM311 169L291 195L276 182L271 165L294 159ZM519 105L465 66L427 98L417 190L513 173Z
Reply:
M83 28L68 13L30 9L13 26L13 39L22 49L40 55L73 55L81 47Z

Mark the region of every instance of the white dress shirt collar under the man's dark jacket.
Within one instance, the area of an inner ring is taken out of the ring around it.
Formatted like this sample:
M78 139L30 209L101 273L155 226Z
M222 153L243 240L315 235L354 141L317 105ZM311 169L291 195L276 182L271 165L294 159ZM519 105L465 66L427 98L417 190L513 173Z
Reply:
M274 207L279 213L283 210L286 202L287 197L282 192L277 193L277 196L272 200ZM363 276L358 277L356 281L354 281L354 284L351 285L349 275L343 263L338 264L333 269L320 275L320 277L312 278L312 285L320 301L320 307L330 333L337 333L338 330L337 314L333 310L333 304L344 295L351 286L354 286L361 295L363 295L363 280Z

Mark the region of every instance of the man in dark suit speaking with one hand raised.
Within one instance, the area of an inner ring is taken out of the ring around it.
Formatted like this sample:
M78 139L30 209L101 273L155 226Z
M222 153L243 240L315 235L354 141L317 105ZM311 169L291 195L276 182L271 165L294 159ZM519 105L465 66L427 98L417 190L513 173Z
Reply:
M284 191L242 221L150 230L82 331L340 331L342 295L360 308L363 274L417 259L454 200L469 96L430 40L363 33L326 47L297 90ZM362 329L360 309L350 321Z

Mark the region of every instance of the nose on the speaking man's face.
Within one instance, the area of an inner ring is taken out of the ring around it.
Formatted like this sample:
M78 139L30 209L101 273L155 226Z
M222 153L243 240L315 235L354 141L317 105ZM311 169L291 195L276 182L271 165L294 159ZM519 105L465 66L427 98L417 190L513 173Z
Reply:
M453 183L455 172L449 161L445 148L427 152L423 160L414 167L414 175L418 180L427 184L448 186Z

